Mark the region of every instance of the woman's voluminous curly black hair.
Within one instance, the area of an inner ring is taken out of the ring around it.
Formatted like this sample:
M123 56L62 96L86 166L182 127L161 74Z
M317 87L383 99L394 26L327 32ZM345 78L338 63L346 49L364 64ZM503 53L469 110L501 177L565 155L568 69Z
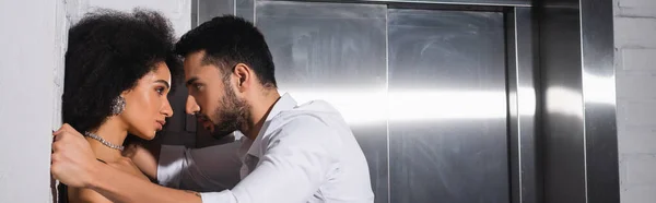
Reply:
M69 29L63 122L80 132L96 130L112 115L113 100L159 62L168 65L173 82L179 81L181 63L174 43L169 22L154 11L98 10L84 15Z

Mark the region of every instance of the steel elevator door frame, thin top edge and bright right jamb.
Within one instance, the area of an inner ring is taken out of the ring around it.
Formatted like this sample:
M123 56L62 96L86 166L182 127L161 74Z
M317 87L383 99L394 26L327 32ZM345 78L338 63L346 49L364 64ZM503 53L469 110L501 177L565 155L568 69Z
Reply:
M202 1L202 0L195 0ZM216 0L211 0L216 1ZM225 1L225 0L223 0ZM445 0L445 1L388 1L388 0L266 0L286 2L332 2L360 4L387 4L399 9L456 10L456 11L495 11L502 12L506 31L506 95L508 124L508 174L509 200L513 203L539 202L539 178L536 169L536 130L535 105L539 91L534 71L532 21L529 0ZM421 3L419 3L421 2ZM203 2L207 3L207 2ZM198 7L192 1L192 7ZM235 3L232 3L235 5ZM236 5L233 12L236 12ZM220 12L216 12L220 13ZM192 11L192 26L199 21L198 10ZM233 13L234 14L234 13ZM255 15L255 14L254 14ZM202 19L208 19L204 16ZM255 19L255 16L254 16ZM522 89L522 91L517 91ZM522 114L522 116L519 116ZM389 186L388 186L389 187ZM522 189L522 190L520 190ZM389 190L389 188L388 188ZM390 200L388 200L390 201Z

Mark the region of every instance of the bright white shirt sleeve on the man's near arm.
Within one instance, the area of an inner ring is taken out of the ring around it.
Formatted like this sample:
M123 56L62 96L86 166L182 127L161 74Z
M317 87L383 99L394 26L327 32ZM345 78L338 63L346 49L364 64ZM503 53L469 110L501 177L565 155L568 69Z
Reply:
M266 152L255 170L233 190L203 193L203 203L303 203L338 165L339 136L318 119L290 121L261 144Z

